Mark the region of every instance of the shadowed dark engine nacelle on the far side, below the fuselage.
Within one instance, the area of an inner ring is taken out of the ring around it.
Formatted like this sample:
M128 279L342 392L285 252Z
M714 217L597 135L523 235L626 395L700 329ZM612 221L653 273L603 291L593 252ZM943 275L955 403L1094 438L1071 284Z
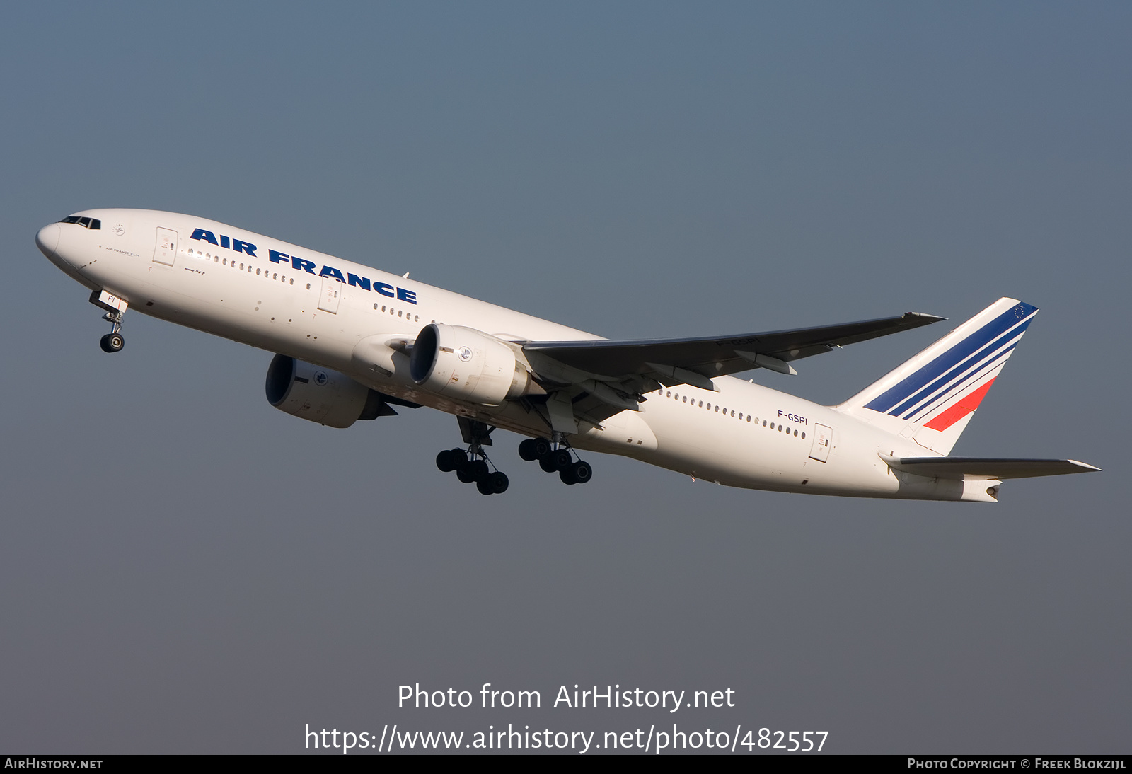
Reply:
M358 420L377 419L388 410L381 394L345 373L275 355L267 368L267 402L292 416L349 428Z

